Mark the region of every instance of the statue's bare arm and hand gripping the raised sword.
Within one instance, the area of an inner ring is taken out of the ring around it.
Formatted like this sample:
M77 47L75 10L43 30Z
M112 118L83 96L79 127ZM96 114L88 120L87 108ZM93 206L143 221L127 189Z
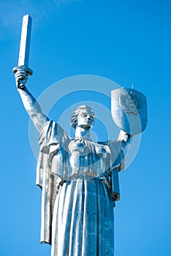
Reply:
M15 81L16 86L18 88L18 92L23 102L23 106L26 109L28 115L34 123L34 126L40 131L41 127L45 124L49 119L42 113L42 109L39 106L39 103L36 99L31 95L26 86L20 88L20 84L26 84L28 80L28 74L23 69L18 69L15 73Z

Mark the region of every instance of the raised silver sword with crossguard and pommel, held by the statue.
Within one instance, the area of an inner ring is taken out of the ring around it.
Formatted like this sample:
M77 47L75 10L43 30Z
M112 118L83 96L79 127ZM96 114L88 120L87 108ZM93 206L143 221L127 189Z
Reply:
M26 71L27 75L32 75L33 71L28 67L30 40L31 40L31 23L32 18L29 15L23 16L23 23L20 36L20 52L18 58L18 67L14 67L12 72L16 73L18 69ZM24 89L26 80L22 80L19 88Z

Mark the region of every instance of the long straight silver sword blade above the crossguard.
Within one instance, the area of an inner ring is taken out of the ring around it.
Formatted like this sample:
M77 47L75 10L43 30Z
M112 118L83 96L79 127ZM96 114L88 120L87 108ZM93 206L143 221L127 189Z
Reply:
M32 23L31 16L24 15L21 36L20 36L20 53L18 58L18 66L28 67L30 40L31 40L31 23Z

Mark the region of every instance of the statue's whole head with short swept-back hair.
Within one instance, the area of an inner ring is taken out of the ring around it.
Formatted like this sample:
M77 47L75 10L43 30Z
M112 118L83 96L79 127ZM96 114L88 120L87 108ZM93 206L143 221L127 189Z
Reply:
M78 126L84 129L91 129L94 125L94 117L94 110L92 110L92 108L86 105L81 105L76 108L72 114L72 127L76 128Z

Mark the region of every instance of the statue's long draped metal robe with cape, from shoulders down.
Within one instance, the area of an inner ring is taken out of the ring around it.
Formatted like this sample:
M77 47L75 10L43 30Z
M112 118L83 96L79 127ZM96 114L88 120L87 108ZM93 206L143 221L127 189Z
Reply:
M70 138L56 122L47 121L39 146L41 242L51 244L51 256L112 256L113 205L124 161L121 141Z

